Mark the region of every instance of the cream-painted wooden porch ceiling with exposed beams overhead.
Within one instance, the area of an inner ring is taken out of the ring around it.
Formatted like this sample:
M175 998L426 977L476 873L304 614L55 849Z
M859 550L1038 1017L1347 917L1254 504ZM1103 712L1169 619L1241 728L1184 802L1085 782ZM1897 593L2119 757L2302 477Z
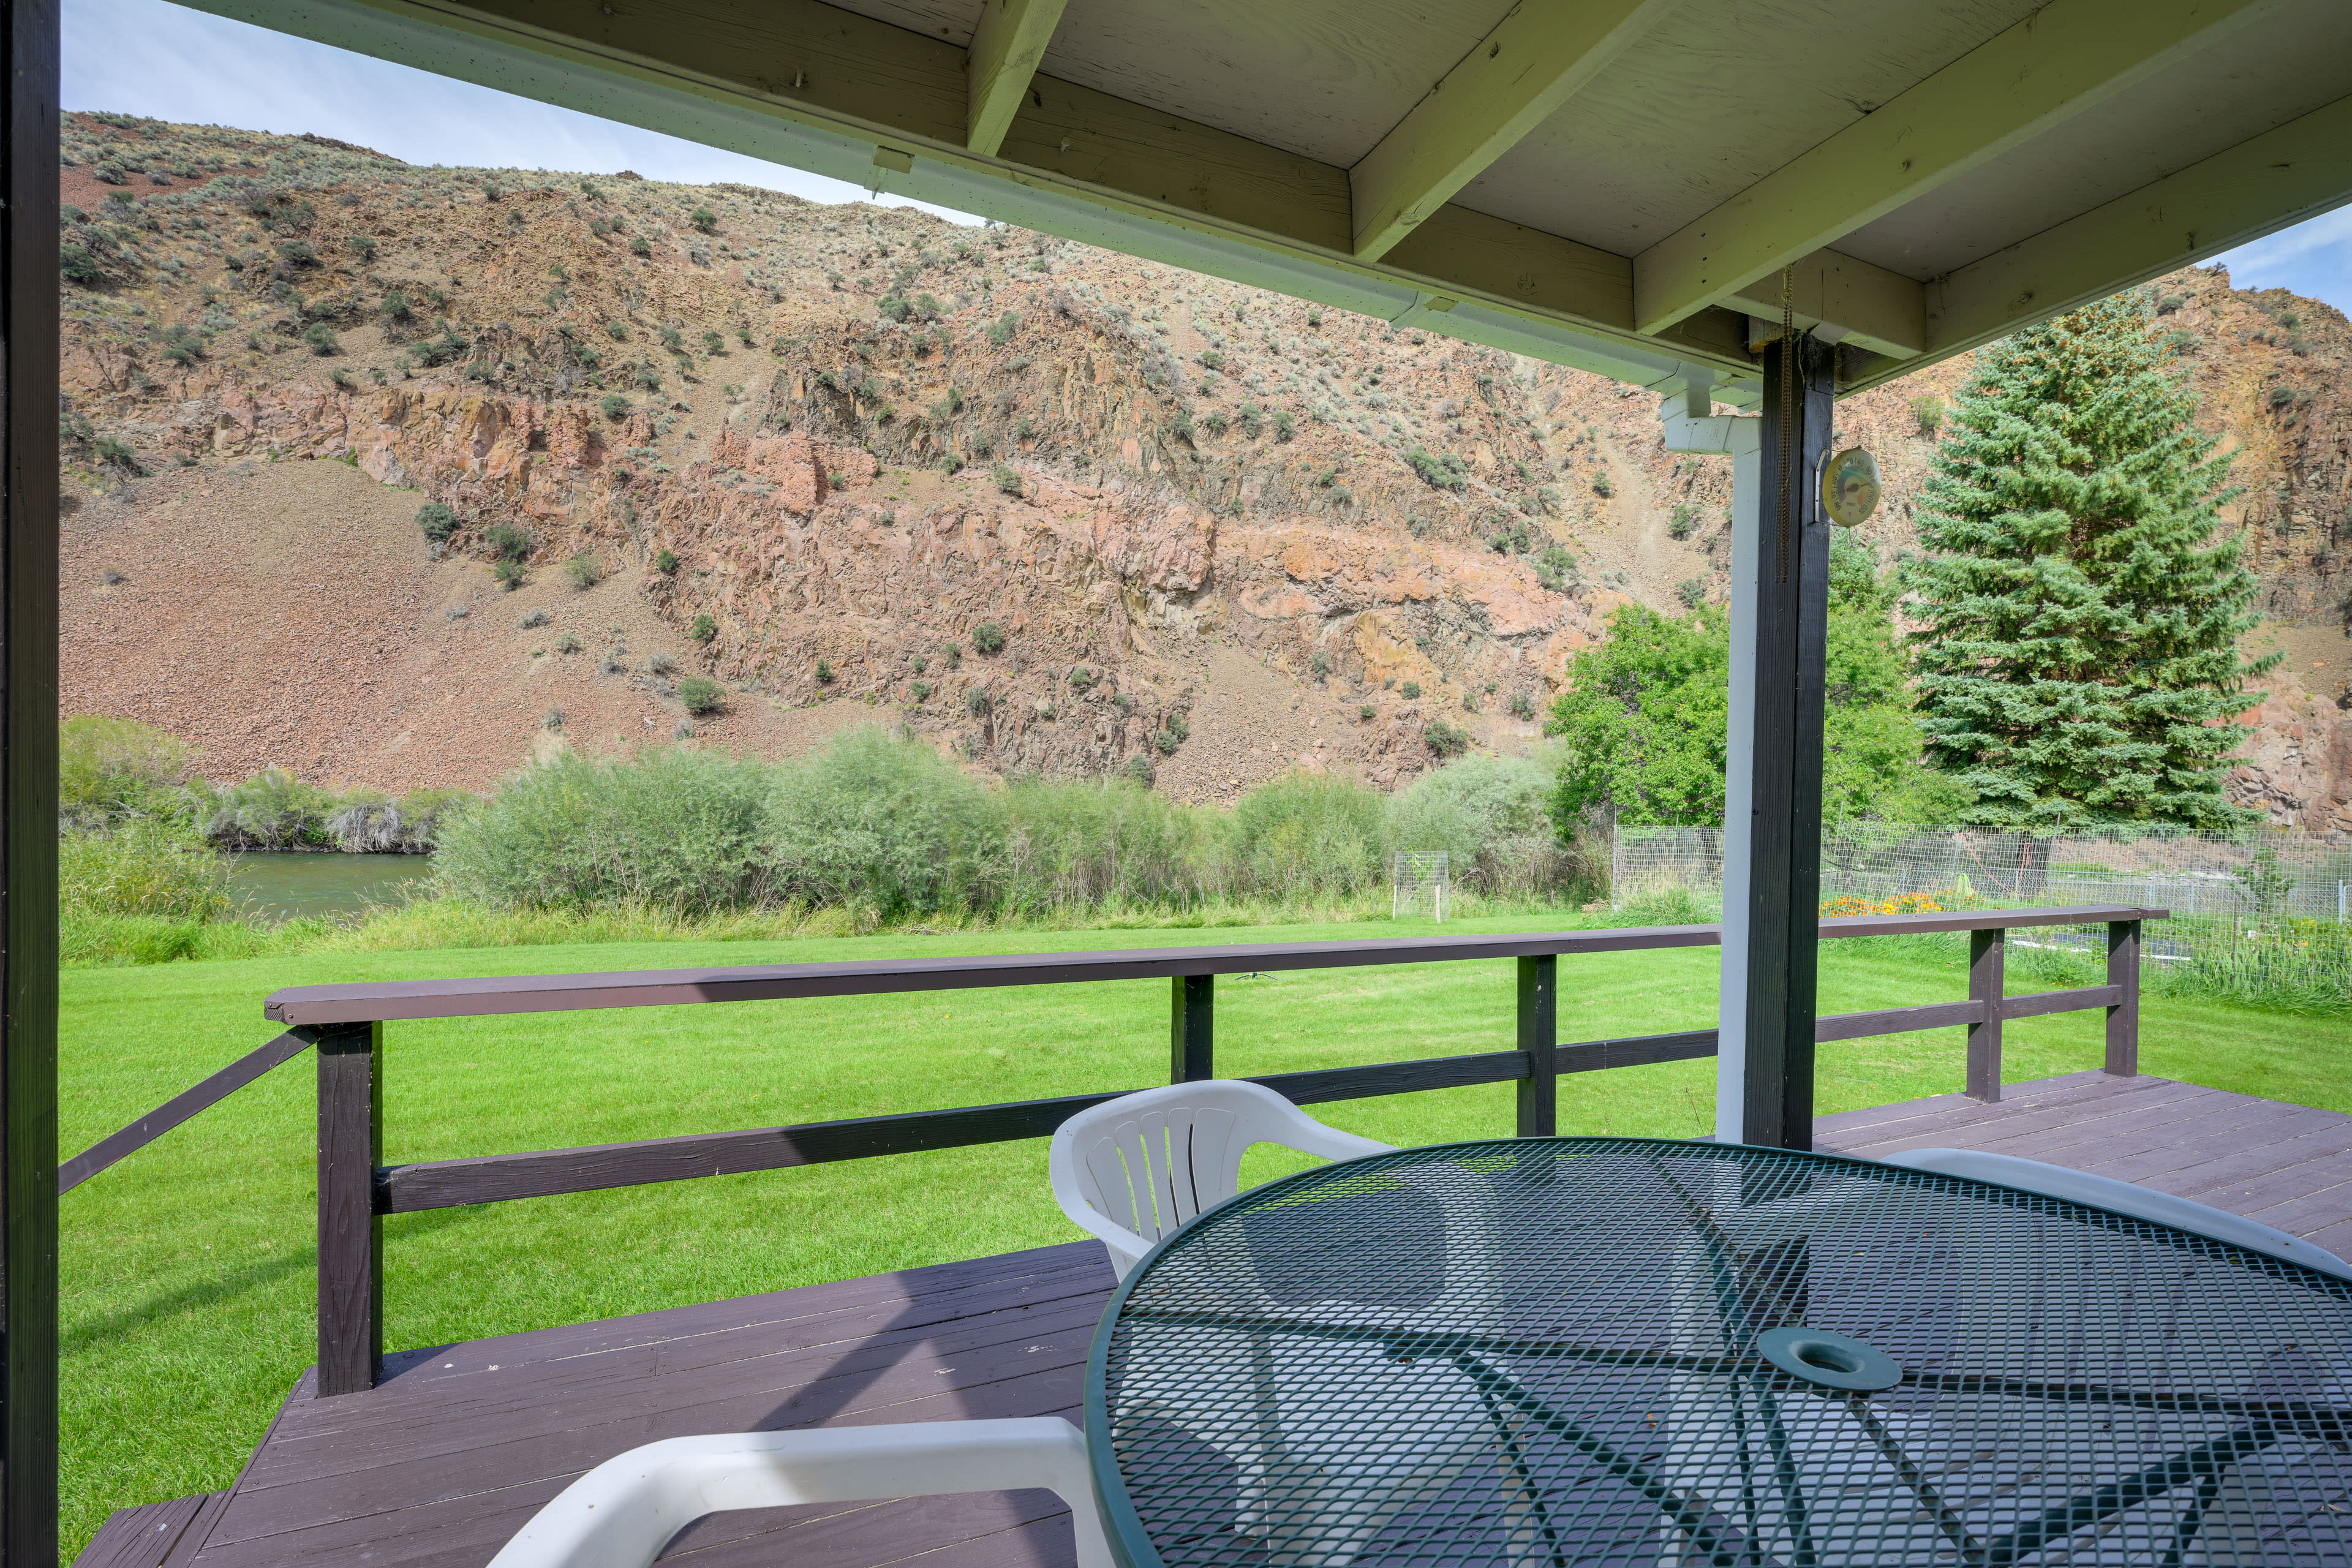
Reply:
M195 2L1733 404L1783 268L1853 390L2352 197L2343 0Z

